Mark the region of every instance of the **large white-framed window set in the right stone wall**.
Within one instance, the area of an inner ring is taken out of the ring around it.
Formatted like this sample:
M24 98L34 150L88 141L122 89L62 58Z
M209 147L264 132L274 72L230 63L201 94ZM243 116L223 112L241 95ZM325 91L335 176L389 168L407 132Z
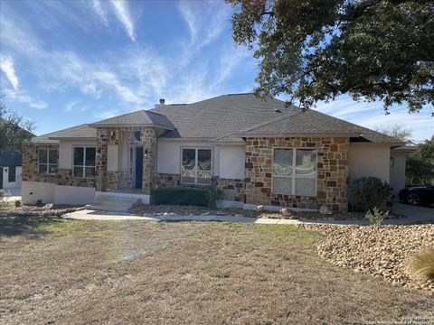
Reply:
M273 192L316 196L316 150L274 149Z

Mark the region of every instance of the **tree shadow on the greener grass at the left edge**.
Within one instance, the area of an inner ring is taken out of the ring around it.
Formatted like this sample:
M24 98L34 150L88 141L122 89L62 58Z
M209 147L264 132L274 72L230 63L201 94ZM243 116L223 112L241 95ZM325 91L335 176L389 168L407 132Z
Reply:
M41 237L52 231L65 227L65 219L56 216L50 217L0 217L0 236L12 237L28 235Z

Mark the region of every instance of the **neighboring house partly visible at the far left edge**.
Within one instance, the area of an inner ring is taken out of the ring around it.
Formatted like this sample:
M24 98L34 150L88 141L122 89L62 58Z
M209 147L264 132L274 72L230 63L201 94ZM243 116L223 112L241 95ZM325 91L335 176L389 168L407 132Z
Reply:
M0 153L0 190L21 187L21 153Z

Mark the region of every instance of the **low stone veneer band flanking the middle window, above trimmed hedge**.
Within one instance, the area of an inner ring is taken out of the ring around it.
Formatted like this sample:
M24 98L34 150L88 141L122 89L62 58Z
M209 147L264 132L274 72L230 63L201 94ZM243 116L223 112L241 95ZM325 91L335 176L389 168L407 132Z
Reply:
M155 185L158 187L191 187L194 185L181 184L180 174L157 173L155 175ZM212 187L223 190L223 200L245 201L244 180L221 179L212 176Z

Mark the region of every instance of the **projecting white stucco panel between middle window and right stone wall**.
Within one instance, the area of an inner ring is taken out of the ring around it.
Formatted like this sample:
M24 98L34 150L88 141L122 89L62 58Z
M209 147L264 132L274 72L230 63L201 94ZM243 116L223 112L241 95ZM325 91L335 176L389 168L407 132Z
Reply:
M243 180L245 160L245 145L222 145L220 147L220 178Z

